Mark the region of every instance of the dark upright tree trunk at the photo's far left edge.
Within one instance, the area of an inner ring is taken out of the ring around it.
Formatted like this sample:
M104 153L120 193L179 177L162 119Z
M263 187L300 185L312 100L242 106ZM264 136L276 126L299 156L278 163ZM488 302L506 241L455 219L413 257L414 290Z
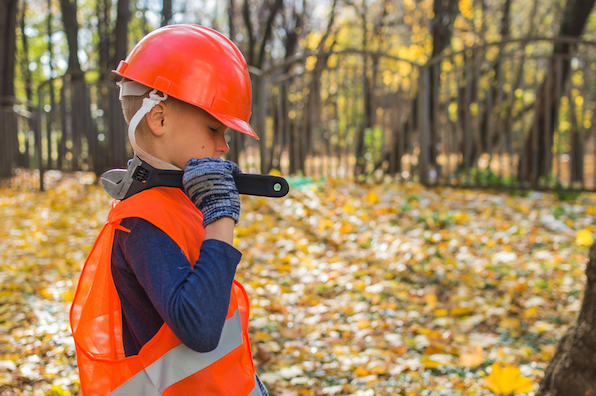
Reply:
M0 178L11 174L18 153L17 124L12 108L16 53L17 0L0 3Z

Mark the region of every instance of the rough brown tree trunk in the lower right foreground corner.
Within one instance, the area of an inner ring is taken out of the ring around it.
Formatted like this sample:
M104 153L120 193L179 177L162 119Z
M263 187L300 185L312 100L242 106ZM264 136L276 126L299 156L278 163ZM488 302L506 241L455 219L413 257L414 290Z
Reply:
M586 276L577 323L559 341L536 396L596 396L596 244Z

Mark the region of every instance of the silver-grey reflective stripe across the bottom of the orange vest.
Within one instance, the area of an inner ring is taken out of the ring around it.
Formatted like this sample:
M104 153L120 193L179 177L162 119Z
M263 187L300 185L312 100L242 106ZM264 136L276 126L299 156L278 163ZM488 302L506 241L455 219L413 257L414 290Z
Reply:
M241 345L242 325L240 311L236 310L234 316L225 321L217 348L210 352L196 352L181 344L126 381L110 396L159 396L166 388L215 363ZM252 391L250 395L260 395L258 385L256 389L258 392Z

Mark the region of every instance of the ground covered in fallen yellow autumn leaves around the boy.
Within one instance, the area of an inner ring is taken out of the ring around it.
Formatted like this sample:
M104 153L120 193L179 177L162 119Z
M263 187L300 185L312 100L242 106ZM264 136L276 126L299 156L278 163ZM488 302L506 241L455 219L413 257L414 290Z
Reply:
M110 199L49 176L44 193L0 188L1 396L78 394L68 308ZM507 392L535 391L579 310L593 203L342 181L244 197L261 378L273 395L491 395L511 376L525 385Z

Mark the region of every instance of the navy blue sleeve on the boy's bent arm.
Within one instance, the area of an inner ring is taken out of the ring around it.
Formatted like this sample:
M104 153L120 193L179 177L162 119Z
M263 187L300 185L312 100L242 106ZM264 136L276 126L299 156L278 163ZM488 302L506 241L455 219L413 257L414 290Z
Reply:
M150 222L126 218L121 224L131 231L119 232L123 256L155 310L189 348L215 349L242 254L206 240L193 269L180 247Z

